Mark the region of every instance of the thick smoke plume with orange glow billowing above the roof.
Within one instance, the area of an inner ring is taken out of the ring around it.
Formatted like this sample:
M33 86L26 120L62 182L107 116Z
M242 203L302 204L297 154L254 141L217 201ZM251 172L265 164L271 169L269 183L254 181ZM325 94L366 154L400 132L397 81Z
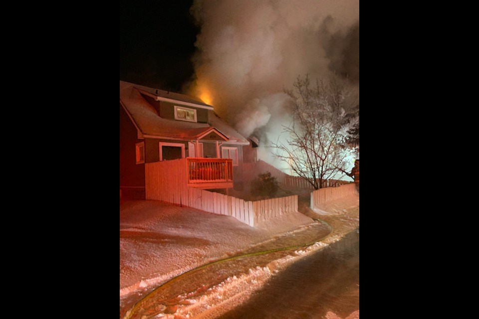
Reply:
M359 0L195 0L191 11L201 33L190 91L245 137L277 138L298 75L359 86Z

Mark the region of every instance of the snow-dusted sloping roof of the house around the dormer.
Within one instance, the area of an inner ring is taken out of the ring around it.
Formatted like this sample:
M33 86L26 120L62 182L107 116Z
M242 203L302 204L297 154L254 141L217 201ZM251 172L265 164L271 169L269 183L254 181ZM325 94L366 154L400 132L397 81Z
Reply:
M208 109L208 123L185 122L161 118L156 109L145 100L139 90L157 96L156 89L120 81L120 103L144 136L190 140L198 138L215 128L222 135L226 136L229 142L249 143L240 133L223 122L213 112L213 107L203 102L198 102L194 97L173 92L169 93L170 99L177 100L181 97L181 101L192 103L200 107L210 107L211 109ZM158 90L158 92L160 91L161 90Z

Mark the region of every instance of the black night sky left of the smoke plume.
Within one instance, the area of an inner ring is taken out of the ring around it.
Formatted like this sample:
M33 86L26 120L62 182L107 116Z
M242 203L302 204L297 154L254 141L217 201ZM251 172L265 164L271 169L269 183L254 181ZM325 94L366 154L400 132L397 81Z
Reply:
M199 33L191 5L187 0L120 4L120 80L181 91L194 73Z

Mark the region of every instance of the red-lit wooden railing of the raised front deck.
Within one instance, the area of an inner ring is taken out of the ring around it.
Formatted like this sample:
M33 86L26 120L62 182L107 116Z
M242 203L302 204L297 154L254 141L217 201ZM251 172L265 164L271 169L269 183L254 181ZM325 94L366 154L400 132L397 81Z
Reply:
M188 158L188 182L232 182L233 160Z

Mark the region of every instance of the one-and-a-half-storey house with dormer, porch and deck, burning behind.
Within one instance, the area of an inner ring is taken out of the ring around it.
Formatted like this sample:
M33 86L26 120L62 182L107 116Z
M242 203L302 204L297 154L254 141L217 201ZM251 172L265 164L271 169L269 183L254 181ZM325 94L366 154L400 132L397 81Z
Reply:
M257 147L213 106L178 93L120 81L120 190L145 198L145 163L187 158L188 186L231 188ZM243 148L245 149L243 152Z

